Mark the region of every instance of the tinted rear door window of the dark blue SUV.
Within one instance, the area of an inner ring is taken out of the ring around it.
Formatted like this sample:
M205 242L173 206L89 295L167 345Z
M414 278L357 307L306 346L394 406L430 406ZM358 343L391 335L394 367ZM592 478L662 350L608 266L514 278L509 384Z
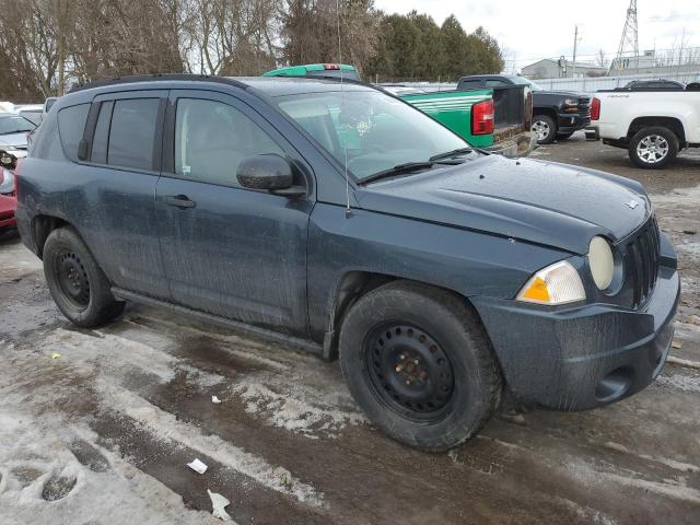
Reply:
M127 98L114 103L107 164L153 170L159 105L160 98ZM102 109L100 113L102 117Z

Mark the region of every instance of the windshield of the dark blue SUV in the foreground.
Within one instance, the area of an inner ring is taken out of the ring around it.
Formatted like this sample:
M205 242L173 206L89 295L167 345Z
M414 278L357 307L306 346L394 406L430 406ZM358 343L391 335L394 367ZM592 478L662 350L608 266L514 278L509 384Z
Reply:
M418 109L378 91L305 93L280 108L358 180L469 144Z

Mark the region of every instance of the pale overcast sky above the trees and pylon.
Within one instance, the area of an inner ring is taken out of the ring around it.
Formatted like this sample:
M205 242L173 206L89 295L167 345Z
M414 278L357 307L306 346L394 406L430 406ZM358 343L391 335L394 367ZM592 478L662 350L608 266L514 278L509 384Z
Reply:
M638 0L640 50L700 46L700 0ZM438 24L454 13L471 32L483 25L505 48L506 69L540 58L571 58L574 26L579 25L578 57L594 60L598 49L617 54L629 0L375 0L387 13L412 9ZM611 57L609 57L611 58Z

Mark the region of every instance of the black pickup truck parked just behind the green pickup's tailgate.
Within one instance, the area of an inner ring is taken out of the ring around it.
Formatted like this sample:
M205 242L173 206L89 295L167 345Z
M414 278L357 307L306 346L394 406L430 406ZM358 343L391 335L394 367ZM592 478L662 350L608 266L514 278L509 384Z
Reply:
M533 90L533 131L539 144L568 139L591 124L591 96L571 91L547 91L532 80L515 74L463 77L457 89L504 85L527 85Z

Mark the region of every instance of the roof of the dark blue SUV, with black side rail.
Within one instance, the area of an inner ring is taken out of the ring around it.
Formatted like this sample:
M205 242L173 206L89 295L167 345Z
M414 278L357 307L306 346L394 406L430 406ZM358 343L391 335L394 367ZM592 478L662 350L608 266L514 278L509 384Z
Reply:
M340 91L340 79L327 79L323 77L209 77L202 74L149 74L138 77L121 77L109 80L100 80L88 84L80 85L71 90L71 93L82 92L91 89L112 88L119 85L127 88L160 88L165 83L198 83L210 82L219 84L228 84L235 88L252 89L261 92L271 97L283 95L295 95L303 93L322 93ZM167 86L163 86L167 89ZM346 79L342 83L345 91L370 91L372 86L351 79Z

